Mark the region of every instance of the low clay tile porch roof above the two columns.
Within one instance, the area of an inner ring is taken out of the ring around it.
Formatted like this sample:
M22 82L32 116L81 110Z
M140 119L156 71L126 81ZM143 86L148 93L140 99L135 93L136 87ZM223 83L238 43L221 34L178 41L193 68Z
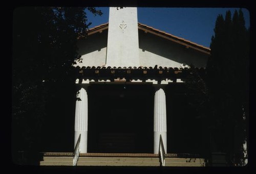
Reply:
M82 79L98 79L98 80L111 80L115 82L115 79L122 81L124 78L127 82L130 80L174 80L184 79L188 76L193 76L194 73L198 73L202 78L205 77L205 68L178 68L178 67L95 67L95 66L76 66L75 67L77 78ZM97 82L98 83L98 82Z

